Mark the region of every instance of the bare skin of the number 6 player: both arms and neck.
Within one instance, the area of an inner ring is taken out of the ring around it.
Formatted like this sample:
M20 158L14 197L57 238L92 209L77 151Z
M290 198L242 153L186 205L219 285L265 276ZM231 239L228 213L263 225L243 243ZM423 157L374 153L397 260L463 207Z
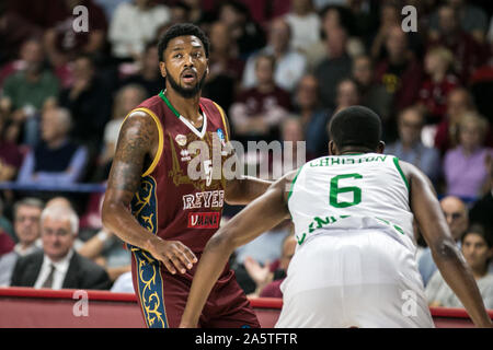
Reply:
M376 150L362 148L340 150L333 141L329 143L330 155L383 153L383 142L380 142ZM474 325L492 327L478 285L451 237L432 183L414 165L405 162L400 162L400 165L410 184L411 210L432 249L442 276L460 299ZM295 176L296 171L272 184L265 194L246 206L209 240L197 266L180 327L197 327L209 292L234 249L289 218L288 188Z

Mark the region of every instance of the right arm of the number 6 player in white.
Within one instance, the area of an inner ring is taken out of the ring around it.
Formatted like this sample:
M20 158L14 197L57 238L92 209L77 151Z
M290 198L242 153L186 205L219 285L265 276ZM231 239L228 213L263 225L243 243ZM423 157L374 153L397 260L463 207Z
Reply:
M411 188L411 210L432 250L444 280L478 327L492 327L474 278L449 232L429 179L415 166L401 162Z

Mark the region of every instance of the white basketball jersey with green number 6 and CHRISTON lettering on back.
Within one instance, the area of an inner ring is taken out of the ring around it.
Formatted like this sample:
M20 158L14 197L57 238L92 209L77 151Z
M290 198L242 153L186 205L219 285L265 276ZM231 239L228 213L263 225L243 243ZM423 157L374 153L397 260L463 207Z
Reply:
M300 246L320 234L368 229L415 250L409 184L393 155L347 154L310 161L290 185L288 208Z

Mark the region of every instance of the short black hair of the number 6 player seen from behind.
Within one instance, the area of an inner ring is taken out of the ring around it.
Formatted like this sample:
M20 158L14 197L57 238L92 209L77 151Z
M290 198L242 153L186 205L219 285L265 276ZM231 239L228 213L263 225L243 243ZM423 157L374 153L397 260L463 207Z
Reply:
M360 147L376 150L381 139L381 120L367 107L351 106L332 117L329 133L337 149Z

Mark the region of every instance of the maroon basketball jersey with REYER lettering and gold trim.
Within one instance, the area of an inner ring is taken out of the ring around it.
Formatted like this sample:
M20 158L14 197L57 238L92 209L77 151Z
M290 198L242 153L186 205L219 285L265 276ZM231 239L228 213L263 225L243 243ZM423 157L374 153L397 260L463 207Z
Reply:
M222 173L213 176L213 166L222 170L229 156L222 108L208 98L200 98L199 106L200 130L180 116L162 92L133 110L154 119L159 150L142 174L131 212L147 230L163 240L181 241L194 253L202 253L219 228L226 180Z

